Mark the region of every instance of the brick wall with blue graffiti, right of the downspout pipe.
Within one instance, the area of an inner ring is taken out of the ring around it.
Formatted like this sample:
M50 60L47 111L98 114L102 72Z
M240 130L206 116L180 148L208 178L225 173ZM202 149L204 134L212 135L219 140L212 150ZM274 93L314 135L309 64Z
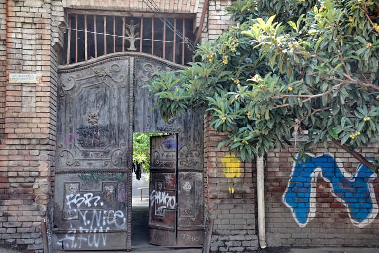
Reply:
M372 143L359 151L373 158L378 147ZM286 147L268 154L268 246L378 246L379 180L370 178L372 172L334 144L328 150L318 145L312 150L313 163L300 166L294 165L293 152Z

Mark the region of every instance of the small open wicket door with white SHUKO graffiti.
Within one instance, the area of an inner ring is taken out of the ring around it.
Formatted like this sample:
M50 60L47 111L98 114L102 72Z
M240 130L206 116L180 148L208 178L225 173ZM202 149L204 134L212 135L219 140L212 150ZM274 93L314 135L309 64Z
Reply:
M177 135L150 137L149 243L176 245Z

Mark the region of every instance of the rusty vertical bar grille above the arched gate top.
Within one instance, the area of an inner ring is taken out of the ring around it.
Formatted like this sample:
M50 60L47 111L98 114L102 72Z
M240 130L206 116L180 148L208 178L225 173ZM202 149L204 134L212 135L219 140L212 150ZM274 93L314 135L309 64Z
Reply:
M183 42L185 38L195 39L193 19L175 17L160 20L146 17L143 13L140 17L115 14L99 17L89 11L71 15L66 38L67 58L62 59L60 64L73 64L111 52L128 51L148 53L182 65L192 60L193 52ZM175 33L176 29L183 36Z

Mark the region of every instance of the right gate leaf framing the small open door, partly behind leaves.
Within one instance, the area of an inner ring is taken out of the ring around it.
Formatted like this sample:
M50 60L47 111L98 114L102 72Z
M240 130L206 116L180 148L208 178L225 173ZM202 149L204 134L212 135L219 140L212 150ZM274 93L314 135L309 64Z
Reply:
M178 184L178 245L200 245L204 234L203 213L203 115L187 111L186 115L171 117L165 122L155 107L152 92L142 86L150 84L149 79L157 77L157 71L167 73L181 66L149 57L135 57L134 79L134 131L155 133L178 133L178 180L191 185L190 193ZM189 214L189 210L191 213ZM187 213L187 215L186 215Z

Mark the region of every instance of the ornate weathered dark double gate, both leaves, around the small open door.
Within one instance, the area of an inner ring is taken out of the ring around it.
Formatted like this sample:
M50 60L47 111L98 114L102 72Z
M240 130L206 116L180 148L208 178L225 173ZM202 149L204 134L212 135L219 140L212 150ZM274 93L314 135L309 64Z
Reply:
M60 66L54 248L131 249L133 132L175 133L178 154L172 180L178 181L173 187L177 233L169 245L202 244L202 115L187 113L166 123L157 110L149 112L153 99L142 88L158 70L180 68L138 53L115 53ZM183 186L192 190L185 193ZM156 200L154 194L151 197ZM170 209L162 208L162 212L168 215ZM162 239L154 243L167 244Z

